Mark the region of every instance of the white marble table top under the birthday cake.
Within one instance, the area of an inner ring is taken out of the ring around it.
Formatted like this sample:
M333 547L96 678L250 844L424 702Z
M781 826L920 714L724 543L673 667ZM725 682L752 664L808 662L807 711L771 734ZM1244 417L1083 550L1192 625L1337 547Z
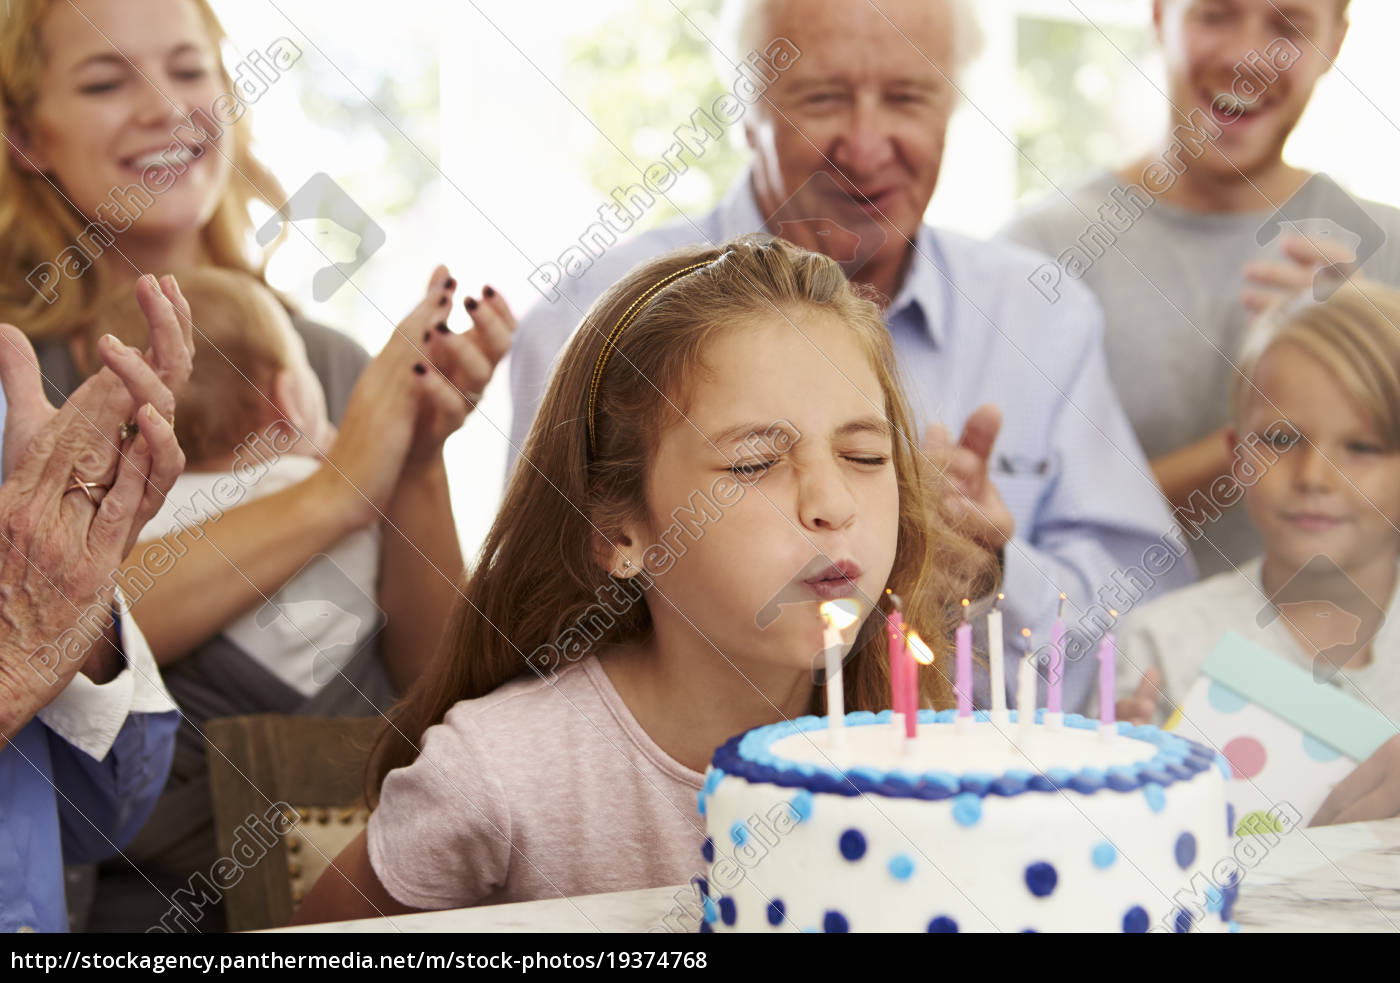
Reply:
M1252 837L1235 919L1243 931L1400 931L1400 818ZM1268 842L1273 840L1273 842ZM699 927L689 885L281 928L312 933L636 933Z

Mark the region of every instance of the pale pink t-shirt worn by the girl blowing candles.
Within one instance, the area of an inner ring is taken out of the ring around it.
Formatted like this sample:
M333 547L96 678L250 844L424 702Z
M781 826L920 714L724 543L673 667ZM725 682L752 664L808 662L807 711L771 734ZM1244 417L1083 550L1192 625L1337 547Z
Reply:
M685 884L703 872L704 776L658 748L592 655L462 700L391 772L370 863L410 907Z

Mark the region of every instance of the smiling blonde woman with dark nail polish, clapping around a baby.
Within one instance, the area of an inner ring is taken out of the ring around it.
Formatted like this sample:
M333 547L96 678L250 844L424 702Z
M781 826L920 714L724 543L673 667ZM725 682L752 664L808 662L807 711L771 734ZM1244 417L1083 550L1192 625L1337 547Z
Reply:
M252 155L246 106L207 0L8 0L0 18L0 321L39 350L50 396L94 368L101 312L144 272L218 266L263 279L248 206L283 192ZM339 435L323 466L200 527L172 569L119 574L183 711L151 823L102 878L94 927L144 930L214 860L202 723L239 713L372 714L417 676L462 574L442 441L475 407L514 321L487 288L473 329L448 330L456 281L423 300L370 360L290 311ZM195 323L195 343L200 343ZM384 630L305 699L220 630L336 542L382 522ZM207 914L207 912L206 912ZM206 917L199 928L218 927Z

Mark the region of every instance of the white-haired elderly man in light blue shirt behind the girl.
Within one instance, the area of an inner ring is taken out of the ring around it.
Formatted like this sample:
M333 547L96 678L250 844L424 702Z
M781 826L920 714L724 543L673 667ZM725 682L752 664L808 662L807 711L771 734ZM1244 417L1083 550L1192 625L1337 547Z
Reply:
M757 52L734 62L766 67L770 80L743 118L750 172L711 214L641 235L561 279L553 302L521 322L514 452L556 353L623 272L676 245L766 230L830 255L886 298L924 452L973 538L1001 559L1015 632L1028 626L1046 641L1061 591L1071 618L1105 591L1105 608L1126 608L1190 583L1189 556L1161 562L1170 518L1109 386L1093 298L1074 288L1046 309L1029 283L1044 258L923 224L956 71L976 45L970 4L771 0L734 20L738 50ZM1152 573L1149 550L1162 550ZM1091 658L1070 662L1065 710L1086 703L1093 672Z

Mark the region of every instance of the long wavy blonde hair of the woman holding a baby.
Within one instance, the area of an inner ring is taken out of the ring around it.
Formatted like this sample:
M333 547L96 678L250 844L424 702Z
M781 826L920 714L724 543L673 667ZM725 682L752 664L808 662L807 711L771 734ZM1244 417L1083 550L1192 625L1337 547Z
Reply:
M6 0L0 14L0 137L7 141L11 126L27 125L39 101L43 21L59 1ZM234 81L220 55L224 28L207 0L189 3L195 4L209 31L223 91L234 92ZM244 112L228 130L232 136L228 186L200 231L200 242L214 266L248 273L266 286L266 253L253 256L249 252L253 225L248 206L256 199L280 209L287 196L272 172L253 157L251 113ZM59 263L60 253L80 242L91 221L69 204L48 176L21 168L8 150L0 147L0 321L18 325L32 339L95 330L97 315L136 279L137 270L122 258L119 241L108 245L80 276L62 276L52 302L25 281L41 263ZM279 235L273 245L281 238ZM91 239L88 234L83 241Z

